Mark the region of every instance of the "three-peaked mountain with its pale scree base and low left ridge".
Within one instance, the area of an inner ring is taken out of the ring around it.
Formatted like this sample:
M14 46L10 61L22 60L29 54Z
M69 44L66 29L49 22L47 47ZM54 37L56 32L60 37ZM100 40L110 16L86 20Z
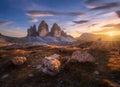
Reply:
M44 20L40 23L38 29L36 28L36 25L27 29L26 37L17 38L0 34L0 43L41 43L61 45L70 44L75 41L76 39L67 35L57 23L54 23L51 31L49 31L49 27Z

